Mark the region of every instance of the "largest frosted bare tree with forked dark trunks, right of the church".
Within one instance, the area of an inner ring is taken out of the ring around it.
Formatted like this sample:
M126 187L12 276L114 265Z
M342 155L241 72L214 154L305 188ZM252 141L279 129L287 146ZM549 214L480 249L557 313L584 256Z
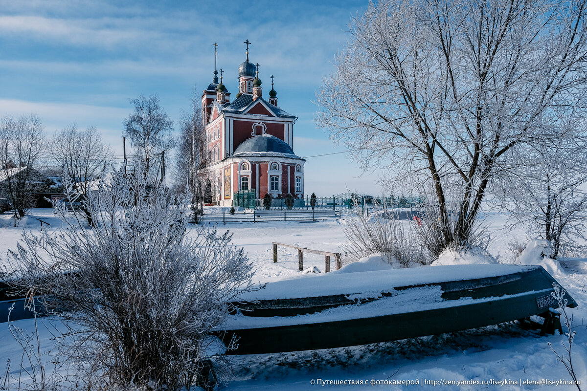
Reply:
M458 246L507 153L551 138L537 123L584 93L584 18L584 0L372 2L318 94L317 123L367 167L433 189L444 247Z

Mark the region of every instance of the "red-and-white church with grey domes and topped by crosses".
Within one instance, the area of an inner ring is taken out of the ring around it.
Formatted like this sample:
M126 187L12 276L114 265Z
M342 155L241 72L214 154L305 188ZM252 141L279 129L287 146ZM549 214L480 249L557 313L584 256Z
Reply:
M213 82L202 94L205 157L198 173L212 188L212 203L231 206L237 192L255 192L255 198L294 196L303 204L303 165L294 154L294 124L298 119L278 106L271 76L269 98L263 98L259 64L247 58L238 67L238 93L230 92L214 69ZM214 44L216 46L216 44ZM215 52L215 50L214 50Z

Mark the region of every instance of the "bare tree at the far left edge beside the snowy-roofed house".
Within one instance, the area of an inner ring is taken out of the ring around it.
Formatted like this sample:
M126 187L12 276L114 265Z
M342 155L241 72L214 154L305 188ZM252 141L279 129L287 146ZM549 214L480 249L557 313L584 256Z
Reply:
M0 192L14 209L16 219L25 216L34 205L31 192L43 178L35 170L45 152L45 127L35 114L19 117L5 115L0 123Z

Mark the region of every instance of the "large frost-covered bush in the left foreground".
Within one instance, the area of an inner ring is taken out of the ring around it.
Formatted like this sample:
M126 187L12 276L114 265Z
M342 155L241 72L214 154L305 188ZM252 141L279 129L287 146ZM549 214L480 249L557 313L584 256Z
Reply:
M88 196L93 229L56 205L60 232L24 233L12 253L21 288L69 327L61 348L82 371L77 386L191 389L218 358L208 332L251 288L251 263L228 232L186 236L190 209L178 201L114 172Z

